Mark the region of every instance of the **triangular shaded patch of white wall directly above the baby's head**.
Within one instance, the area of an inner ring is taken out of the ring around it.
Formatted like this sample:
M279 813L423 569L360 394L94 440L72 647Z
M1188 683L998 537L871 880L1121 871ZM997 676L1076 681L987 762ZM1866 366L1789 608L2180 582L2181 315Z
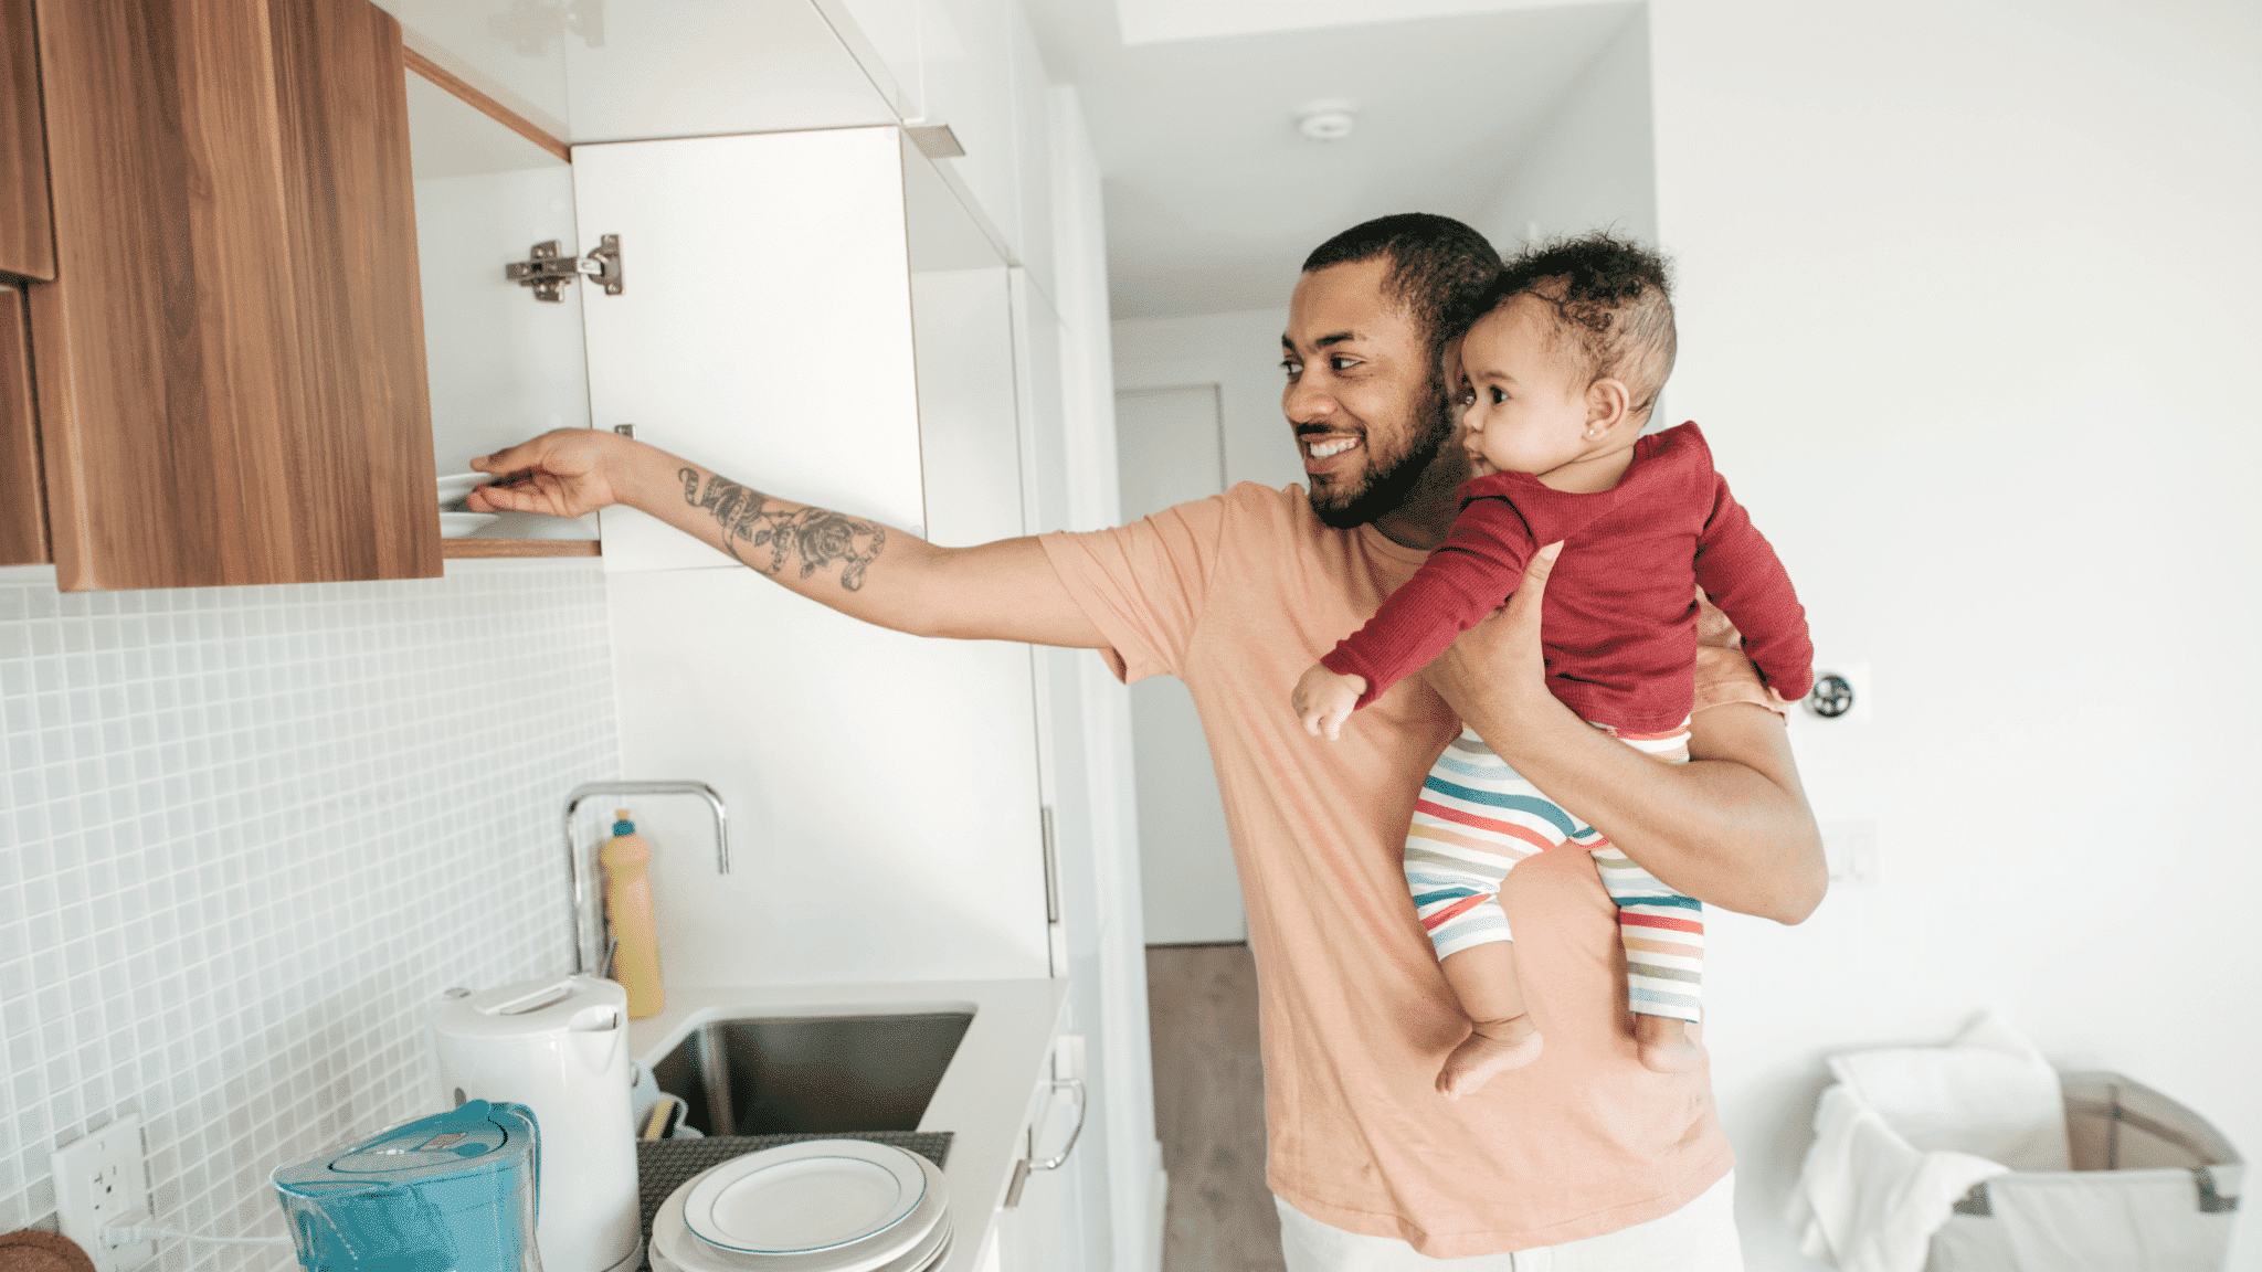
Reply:
M1649 136L1649 14L1635 9L1556 104L1531 149L1470 222L1502 253L1559 233L1615 226L1656 242Z

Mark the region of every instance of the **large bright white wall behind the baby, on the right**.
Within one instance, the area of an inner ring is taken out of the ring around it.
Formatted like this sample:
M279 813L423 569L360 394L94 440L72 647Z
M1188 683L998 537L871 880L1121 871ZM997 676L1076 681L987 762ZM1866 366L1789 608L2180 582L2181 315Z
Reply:
M1676 412L1871 659L1873 887L1715 917L1758 1272L1819 1057L2000 1007L2262 1152L2251 5L1654 0ZM2251 1209L2251 1206L2248 1206ZM2235 1267L2262 1267L2253 1220Z

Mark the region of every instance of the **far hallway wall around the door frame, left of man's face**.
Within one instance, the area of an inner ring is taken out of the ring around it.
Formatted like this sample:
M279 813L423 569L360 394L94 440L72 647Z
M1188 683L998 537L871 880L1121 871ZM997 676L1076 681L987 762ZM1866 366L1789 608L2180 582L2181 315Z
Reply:
M1226 484L1301 484L1296 439L1280 416L1285 328L1285 306L1231 315L1122 319L1115 324L1115 389L1217 385Z

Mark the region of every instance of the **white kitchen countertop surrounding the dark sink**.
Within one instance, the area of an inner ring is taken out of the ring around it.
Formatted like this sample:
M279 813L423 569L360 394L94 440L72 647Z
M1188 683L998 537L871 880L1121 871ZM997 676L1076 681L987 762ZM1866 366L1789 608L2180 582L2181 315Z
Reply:
M629 1055L658 1064L694 1028L731 1016L873 1016L891 1012L973 1012L943 1071L923 1132L952 1132L950 1258L936 1272L973 1272L991 1218L1022 1157L1022 1127L1068 1007L1065 980L896 980L878 985L758 985L746 989L667 987L667 1009L629 1021Z

